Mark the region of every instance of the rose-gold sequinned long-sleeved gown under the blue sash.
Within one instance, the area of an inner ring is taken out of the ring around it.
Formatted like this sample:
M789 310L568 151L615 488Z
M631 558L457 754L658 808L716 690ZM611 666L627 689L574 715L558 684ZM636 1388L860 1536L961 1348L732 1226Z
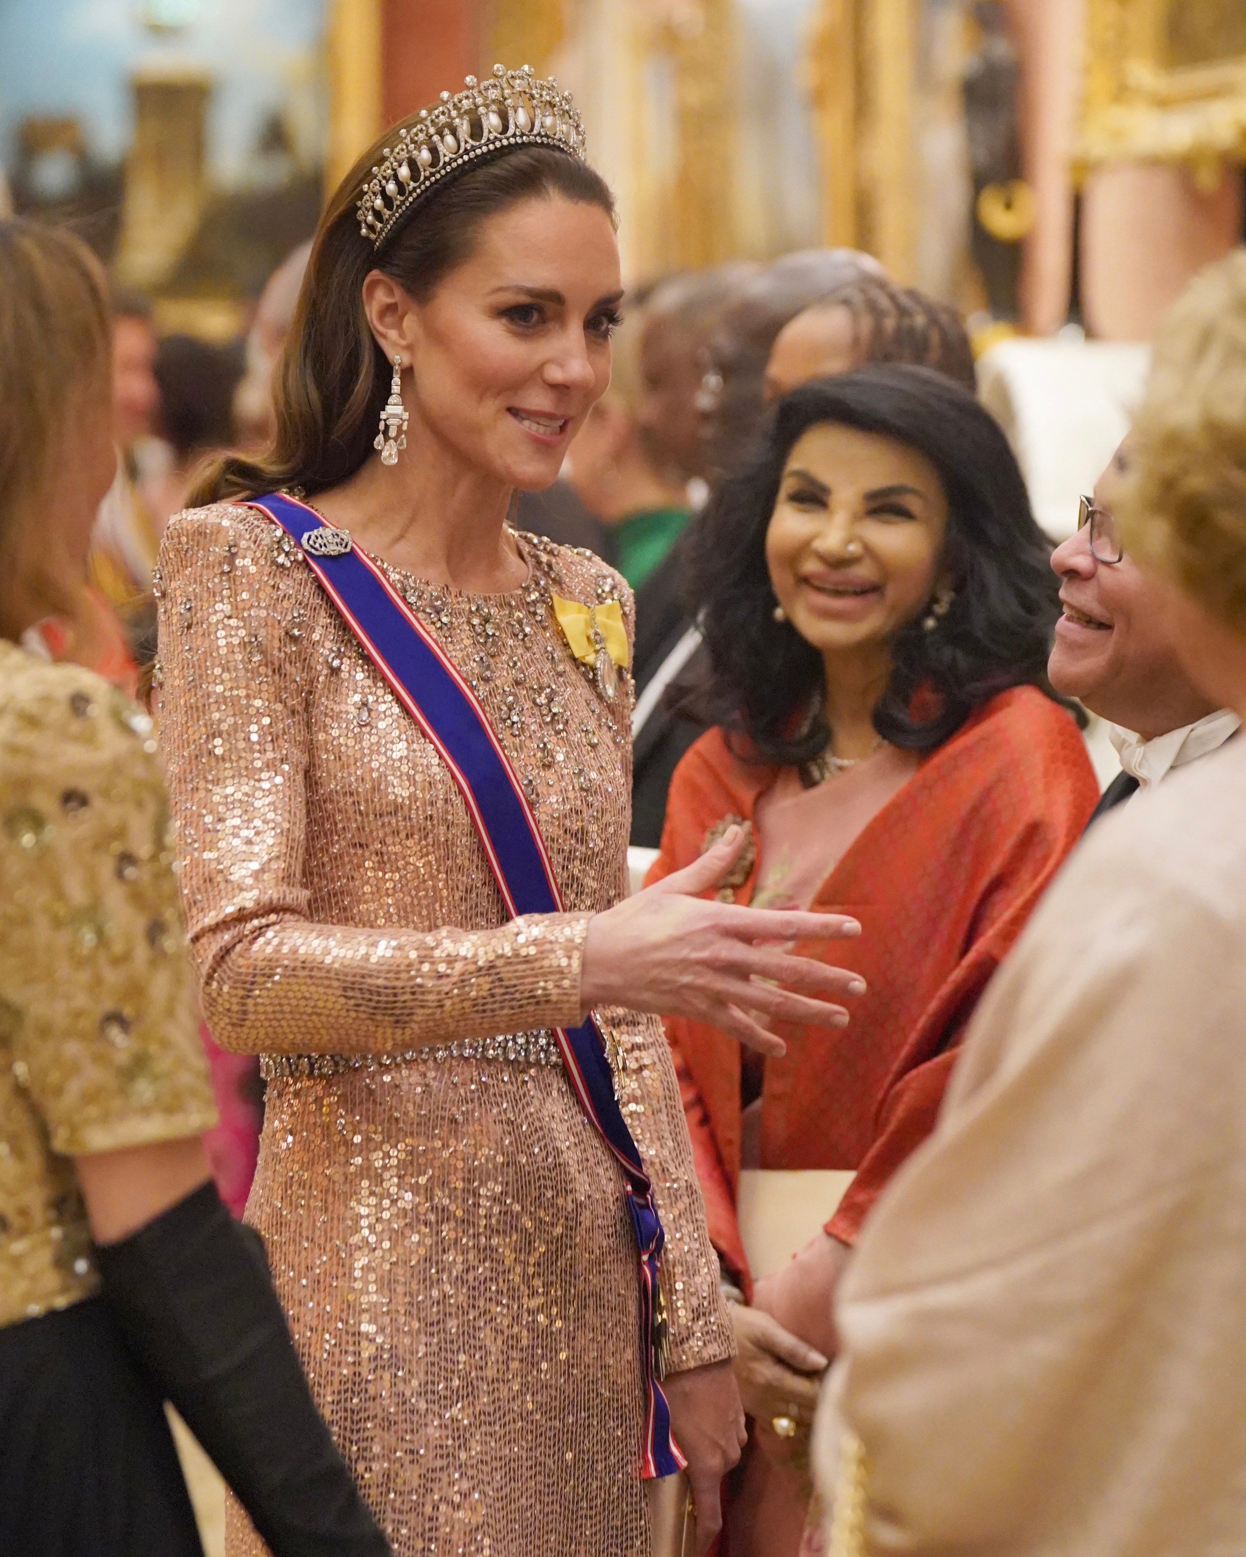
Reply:
M637 1256L618 1171L547 1029L579 1020L592 912L626 891L628 680L581 673L550 595L631 596L523 537L530 579L388 570L484 704L568 912L505 922L463 800L297 548L254 511L173 520L160 727L218 1043L266 1056L249 1219L312 1389L399 1557L649 1549ZM667 1228L671 1367L730 1355L656 1018L600 1014ZM262 1551L231 1510L231 1554Z

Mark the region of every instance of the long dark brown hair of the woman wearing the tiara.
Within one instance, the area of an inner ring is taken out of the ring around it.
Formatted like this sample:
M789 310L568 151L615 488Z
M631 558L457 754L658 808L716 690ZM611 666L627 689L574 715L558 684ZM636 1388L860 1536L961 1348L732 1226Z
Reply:
M380 269L417 302L467 260L481 224L525 199L562 196L614 220L614 198L587 163L553 146L516 146L470 162L430 190L377 252L360 235L360 187L411 115L347 173L321 218L294 324L274 375L277 434L259 459L231 455L210 466L192 504L302 487L336 486L368 459L391 367L363 308L363 282Z

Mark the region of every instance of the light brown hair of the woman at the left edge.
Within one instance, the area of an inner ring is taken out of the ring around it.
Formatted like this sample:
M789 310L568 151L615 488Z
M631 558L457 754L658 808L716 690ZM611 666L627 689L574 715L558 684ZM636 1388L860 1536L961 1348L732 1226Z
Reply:
M72 234L0 220L0 637L62 610L47 494L78 414L109 405L112 325L100 262Z

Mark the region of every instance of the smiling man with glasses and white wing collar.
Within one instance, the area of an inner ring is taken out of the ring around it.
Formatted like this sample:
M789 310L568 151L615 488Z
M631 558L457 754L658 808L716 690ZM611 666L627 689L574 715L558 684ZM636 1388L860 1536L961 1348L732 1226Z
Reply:
M1078 531L1051 553L1064 615L1047 662L1051 685L1114 726L1121 772L1095 817L1173 769L1215 752L1238 729L1181 666L1163 585L1125 556L1112 517L1129 470L1129 439L1081 500ZM1092 817L1092 821L1095 819Z

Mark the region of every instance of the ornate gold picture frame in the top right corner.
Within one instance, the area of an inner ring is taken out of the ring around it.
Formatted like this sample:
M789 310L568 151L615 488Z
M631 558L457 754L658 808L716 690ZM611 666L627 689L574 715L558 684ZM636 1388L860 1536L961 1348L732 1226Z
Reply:
M1246 6L1087 0L1075 174L1187 162L1215 188L1226 157L1246 157Z

